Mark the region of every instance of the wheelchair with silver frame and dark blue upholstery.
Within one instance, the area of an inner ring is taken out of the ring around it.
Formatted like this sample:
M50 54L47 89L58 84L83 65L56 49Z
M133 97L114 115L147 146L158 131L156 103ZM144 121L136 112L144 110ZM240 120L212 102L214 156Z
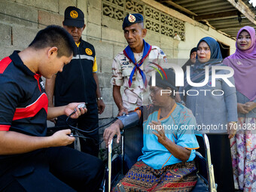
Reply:
M191 190L192 192L216 192L217 184L213 166L211 162L209 140L206 134L203 134L206 158L198 151L194 159L197 166L197 184ZM143 133L142 128L133 126L124 128L121 133L121 154L114 154L112 157L112 142L108 145L108 166L105 174L104 191L110 192L111 189L120 181L121 178L129 171L137 159L142 155Z

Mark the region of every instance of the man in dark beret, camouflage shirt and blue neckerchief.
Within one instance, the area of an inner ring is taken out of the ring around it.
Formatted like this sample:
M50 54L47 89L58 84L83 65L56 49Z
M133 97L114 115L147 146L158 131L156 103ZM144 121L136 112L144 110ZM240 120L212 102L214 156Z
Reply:
M141 14L129 14L123 20L123 33L128 46L115 56L112 70L114 102L118 115L148 105L148 81L155 69L166 62L166 55L157 46L151 46L143 38L147 34ZM153 62L153 63L152 63ZM123 96L120 87L123 86Z

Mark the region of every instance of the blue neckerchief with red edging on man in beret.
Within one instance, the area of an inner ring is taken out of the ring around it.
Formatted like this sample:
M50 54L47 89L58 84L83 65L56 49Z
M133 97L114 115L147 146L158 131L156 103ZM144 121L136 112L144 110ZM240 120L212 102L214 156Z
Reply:
M142 80L143 80L143 83L145 84L145 87L147 87L147 85L148 85L148 81L147 81L146 75L144 74L142 69L140 69L139 67L142 66L143 62L148 57L149 53L151 52L151 48L152 47L144 39L143 39L143 46L144 46L143 55L142 55L142 59L141 59L141 61L139 63L136 62L136 60L134 58L133 50L131 49L131 47L129 45L123 50L123 54L128 59L130 59L130 61L133 62L134 65L135 65L135 67L133 68L133 71L130 74L129 87L131 87L131 85L133 83L133 75L136 72L136 69L138 69L139 73L142 75Z

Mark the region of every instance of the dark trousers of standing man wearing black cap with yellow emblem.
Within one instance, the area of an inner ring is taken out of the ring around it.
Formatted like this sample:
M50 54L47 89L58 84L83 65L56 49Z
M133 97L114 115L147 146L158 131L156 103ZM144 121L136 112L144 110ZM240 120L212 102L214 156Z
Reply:
M56 126L62 126L63 129L70 129L66 123L66 115L58 117ZM78 117L78 119L69 118L69 124L72 126L78 126L80 130L94 130L99 126L99 117L98 117L98 106L97 103L87 104L87 113ZM81 133L81 132L80 132ZM81 151L87 154L98 157L99 154L99 130L94 131L93 133L82 133L88 139L81 139ZM74 144L69 145L69 147L74 148Z

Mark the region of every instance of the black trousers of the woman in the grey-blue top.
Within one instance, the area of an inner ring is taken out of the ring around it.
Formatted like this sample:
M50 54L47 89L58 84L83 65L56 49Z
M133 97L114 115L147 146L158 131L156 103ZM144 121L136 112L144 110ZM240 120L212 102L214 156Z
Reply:
M218 192L233 192L233 168L230 151L230 139L227 134L207 134L210 144L212 165L215 172L215 183ZM203 138L197 136L200 148L197 151L206 157Z

